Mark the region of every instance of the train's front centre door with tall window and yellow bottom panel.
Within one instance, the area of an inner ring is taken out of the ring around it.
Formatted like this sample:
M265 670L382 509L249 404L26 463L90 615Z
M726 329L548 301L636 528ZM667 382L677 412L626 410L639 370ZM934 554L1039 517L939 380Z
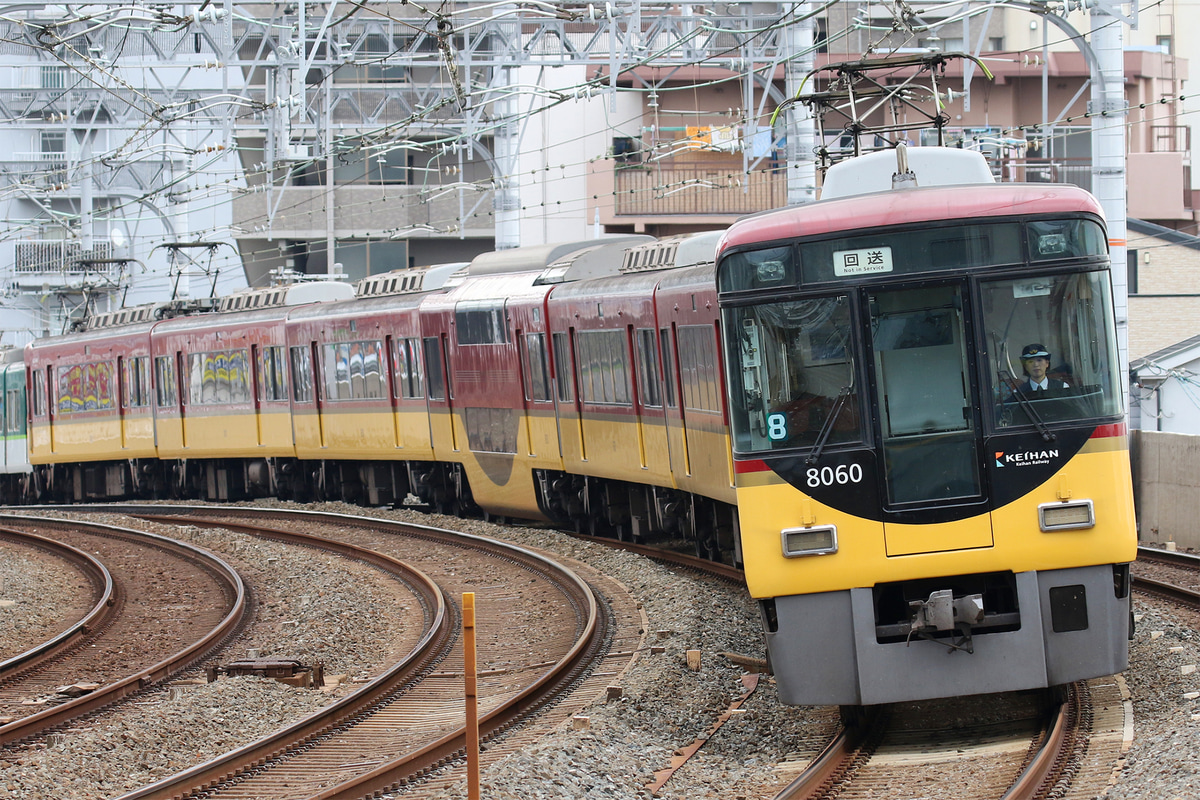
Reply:
M992 543L988 515L941 525L889 521L907 509L984 501L964 290L866 291L888 555Z

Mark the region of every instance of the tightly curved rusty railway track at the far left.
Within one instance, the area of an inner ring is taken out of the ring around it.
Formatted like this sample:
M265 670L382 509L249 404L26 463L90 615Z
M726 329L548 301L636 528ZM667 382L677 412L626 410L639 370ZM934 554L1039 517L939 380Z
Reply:
M0 746L38 736L180 673L218 648L244 619L240 578L199 548L113 525L0 521L10 536L53 535L59 552L90 576L97 591L83 620L4 663L0 709L12 721L0 726ZM84 547L98 557L82 553ZM62 686L78 696L59 692Z

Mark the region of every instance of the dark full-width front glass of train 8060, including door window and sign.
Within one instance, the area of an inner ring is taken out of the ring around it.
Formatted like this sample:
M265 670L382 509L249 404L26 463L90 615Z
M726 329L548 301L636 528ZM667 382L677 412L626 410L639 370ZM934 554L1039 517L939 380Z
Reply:
M1070 219L727 257L734 451L812 458L878 441L888 505L979 497L988 435L1122 413L1106 255L1099 225Z

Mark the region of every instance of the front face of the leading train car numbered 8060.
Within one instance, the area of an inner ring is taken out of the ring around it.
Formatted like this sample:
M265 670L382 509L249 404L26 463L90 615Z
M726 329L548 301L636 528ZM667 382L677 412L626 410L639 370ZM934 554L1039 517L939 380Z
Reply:
M734 224L718 285L746 582L785 702L1126 667L1136 534L1094 198L823 199Z

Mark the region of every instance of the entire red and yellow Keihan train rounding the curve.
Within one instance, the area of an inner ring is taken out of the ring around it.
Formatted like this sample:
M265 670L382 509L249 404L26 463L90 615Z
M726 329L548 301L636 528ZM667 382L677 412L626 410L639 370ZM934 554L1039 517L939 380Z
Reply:
M745 566L791 703L1118 672L1136 537L1100 210L973 154L910 157L919 188L866 156L720 234L35 342L26 493L415 499L686 542Z

